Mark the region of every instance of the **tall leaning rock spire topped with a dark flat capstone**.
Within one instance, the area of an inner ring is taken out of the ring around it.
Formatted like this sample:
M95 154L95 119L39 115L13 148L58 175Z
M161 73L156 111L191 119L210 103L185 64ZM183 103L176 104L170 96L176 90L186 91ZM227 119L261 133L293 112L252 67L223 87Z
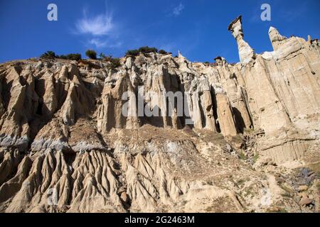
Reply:
M233 37L237 40L240 62L244 64L250 62L255 56L255 51L243 40L242 16L238 16L235 21L231 22L228 30L231 31Z

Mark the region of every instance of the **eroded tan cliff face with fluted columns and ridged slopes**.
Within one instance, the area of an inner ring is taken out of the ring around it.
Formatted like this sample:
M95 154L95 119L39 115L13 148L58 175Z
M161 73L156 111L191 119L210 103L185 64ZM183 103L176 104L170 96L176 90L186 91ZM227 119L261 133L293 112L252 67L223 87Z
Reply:
M320 211L318 40L270 28L259 55L229 30L238 64L2 64L0 211Z

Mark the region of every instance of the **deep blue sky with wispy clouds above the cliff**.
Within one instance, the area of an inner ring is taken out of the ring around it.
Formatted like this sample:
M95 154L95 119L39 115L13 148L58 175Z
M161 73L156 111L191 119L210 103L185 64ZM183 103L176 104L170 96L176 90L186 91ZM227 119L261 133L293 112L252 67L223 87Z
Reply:
M47 20L47 6L58 6L58 21ZM271 6L271 21L261 21L260 6ZM319 0L10 0L0 1L0 62L88 48L122 57L128 49L155 46L191 61L220 55L238 62L238 48L228 31L242 15L245 40L256 50L272 50L267 35L274 26L282 35L320 38Z

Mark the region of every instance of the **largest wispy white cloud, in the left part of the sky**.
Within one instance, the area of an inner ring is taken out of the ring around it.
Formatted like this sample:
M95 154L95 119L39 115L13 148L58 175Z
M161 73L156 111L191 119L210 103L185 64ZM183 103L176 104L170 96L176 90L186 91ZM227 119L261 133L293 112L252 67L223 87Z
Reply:
M78 33L91 35L109 35L114 29L112 14L100 14L92 18L87 17L84 11L83 18L78 20L76 28Z

